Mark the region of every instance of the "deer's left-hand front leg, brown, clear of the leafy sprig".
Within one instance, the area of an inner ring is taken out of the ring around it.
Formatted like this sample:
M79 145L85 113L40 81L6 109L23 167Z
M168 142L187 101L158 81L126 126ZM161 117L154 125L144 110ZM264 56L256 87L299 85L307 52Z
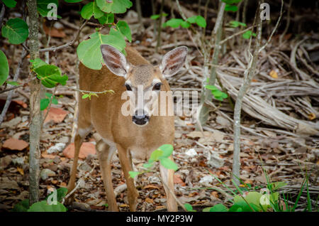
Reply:
M130 205L130 211L136 211L138 190L135 188L134 179L128 173L129 171L133 171L132 158L128 150L123 149L120 145L118 145L118 158L120 158L126 185L128 186L128 205Z

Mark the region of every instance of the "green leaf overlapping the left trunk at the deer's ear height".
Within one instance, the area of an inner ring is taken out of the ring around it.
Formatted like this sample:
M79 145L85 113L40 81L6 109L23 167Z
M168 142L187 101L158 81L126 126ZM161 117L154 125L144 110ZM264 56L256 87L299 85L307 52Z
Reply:
M61 85L67 84L67 75L61 75L60 68L55 65L43 65L33 69L37 74L38 79L41 80L42 85L47 88L52 88L60 83Z

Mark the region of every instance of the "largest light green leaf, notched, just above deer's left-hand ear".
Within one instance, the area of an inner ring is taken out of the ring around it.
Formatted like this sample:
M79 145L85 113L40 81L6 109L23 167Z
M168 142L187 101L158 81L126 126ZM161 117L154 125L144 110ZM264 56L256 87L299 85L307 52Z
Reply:
M79 43L77 47L77 56L79 60L86 66L94 70L102 68L102 53L100 49L101 44L112 45L120 51L125 49L125 40L120 31L111 28L108 35L102 35L99 32L91 34L86 41Z

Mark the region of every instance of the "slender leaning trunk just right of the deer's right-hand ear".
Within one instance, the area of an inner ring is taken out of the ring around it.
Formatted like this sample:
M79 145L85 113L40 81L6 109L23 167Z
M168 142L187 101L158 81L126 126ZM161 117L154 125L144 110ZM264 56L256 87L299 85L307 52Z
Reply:
M224 2L220 2L219 10L218 10L218 16L216 20L215 27L212 32L212 38L215 38L215 48L213 53L213 65L218 65L218 55L220 53L220 39L223 34L223 16L225 11L226 4ZM211 90L207 90L205 88L206 84L208 85L214 85L216 81L216 67L211 66L211 74L209 76L209 81L206 80L203 81L202 90L201 90L201 102L198 107L198 124L201 124L203 126L206 124L206 121L208 119L208 113L209 109L205 104L206 99L211 99L212 94Z

